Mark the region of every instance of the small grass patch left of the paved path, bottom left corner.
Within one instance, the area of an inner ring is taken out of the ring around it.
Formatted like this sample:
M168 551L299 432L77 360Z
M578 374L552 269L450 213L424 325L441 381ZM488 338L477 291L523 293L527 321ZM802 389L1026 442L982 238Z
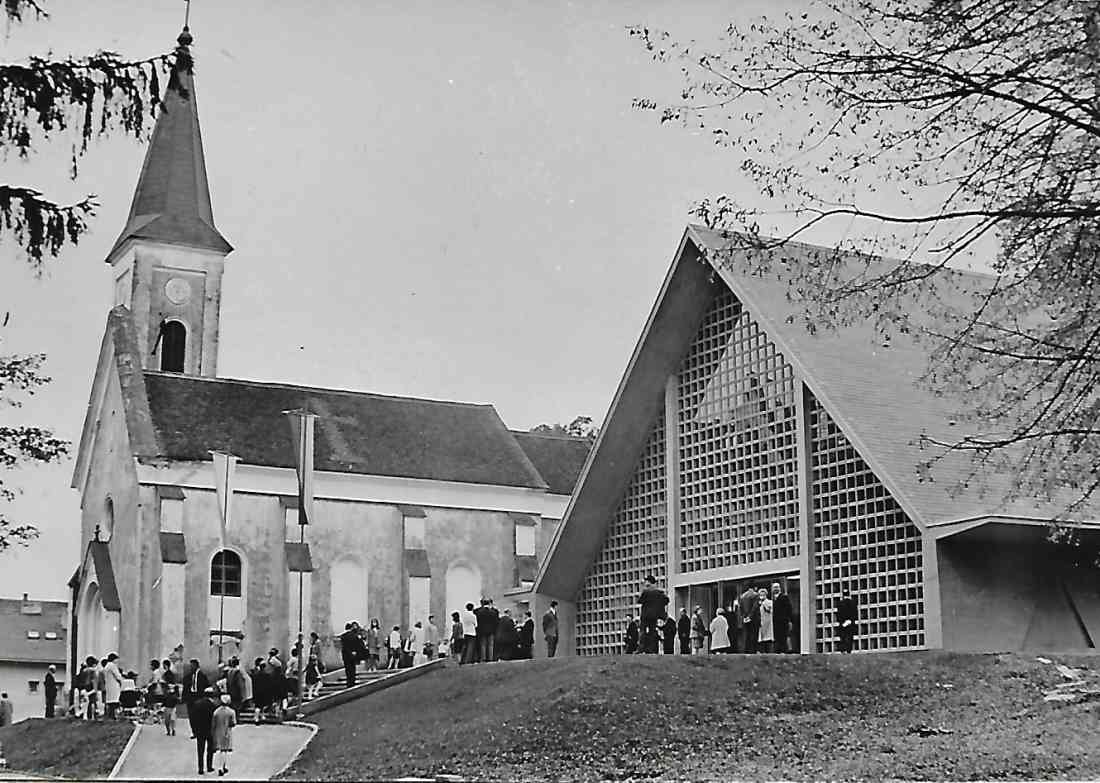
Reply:
M54 778L106 778L133 734L133 724L28 718L0 729L8 769Z

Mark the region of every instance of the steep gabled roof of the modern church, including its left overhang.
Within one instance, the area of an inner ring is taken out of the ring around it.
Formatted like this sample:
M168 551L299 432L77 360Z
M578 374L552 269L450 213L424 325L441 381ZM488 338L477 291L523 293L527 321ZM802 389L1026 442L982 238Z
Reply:
M723 286L759 322L794 367L796 378L919 527L994 515L1049 519L1064 510L1058 504L1005 501L1005 476L987 476L981 489L949 492L953 479L966 475L968 461L963 454L948 455L939 463L934 471L937 481L921 481L917 466L930 456L916 443L922 432L941 440L961 434L952 424L952 412L961 407L960 401L934 396L917 383L927 367L927 345L895 335L889 348L883 346L868 323L811 333L800 318L803 306L783 277L788 264L804 263L814 249L784 246L767 272L745 263L741 251L733 251L733 263L712 265L714 252L722 254L730 247L730 241L716 232L694 225L685 230L542 563L537 592L568 599L580 589L663 406L666 383L679 372L707 307ZM989 280L958 274L970 288Z

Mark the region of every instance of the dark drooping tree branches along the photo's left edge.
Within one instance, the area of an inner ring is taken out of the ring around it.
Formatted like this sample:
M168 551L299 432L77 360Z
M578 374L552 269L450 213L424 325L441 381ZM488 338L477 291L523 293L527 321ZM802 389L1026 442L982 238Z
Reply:
M9 24L48 18L43 0L3 0L3 13ZM68 174L76 179L77 162L91 141L110 134L147 137L160 102L160 81L180 56L187 56L185 47L175 55L140 60L98 52L79 58L31 57L26 63L0 64L0 150L26 159L40 146L57 143L67 134ZM46 260L80 240L96 207L94 195L64 205L29 185L0 184L0 243L41 273ZM7 322L8 315L3 326ZM0 407L19 407L21 397L33 395L50 381L42 372L44 361L42 354L0 355ZM68 444L47 429L0 427L0 468L52 462L67 452ZM15 494L0 482L0 501L10 503ZM36 534L33 525L0 512L0 552L25 544Z

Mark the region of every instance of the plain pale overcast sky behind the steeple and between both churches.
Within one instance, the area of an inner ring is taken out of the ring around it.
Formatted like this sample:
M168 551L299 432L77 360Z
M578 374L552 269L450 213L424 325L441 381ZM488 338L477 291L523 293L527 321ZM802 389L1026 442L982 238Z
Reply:
M182 0L48 4L4 58L168 51ZM196 92L226 269L219 375L492 402L528 429L602 420L691 203L743 189L736 155L631 110L673 97L626 25L713 37L771 2L195 0ZM0 246L0 352L48 354L28 420L74 441L111 306L103 263L144 146L68 142L4 181L95 192L91 233L42 279ZM10 415L9 415L10 416ZM0 595L64 598L72 461L4 477L42 538L0 555Z

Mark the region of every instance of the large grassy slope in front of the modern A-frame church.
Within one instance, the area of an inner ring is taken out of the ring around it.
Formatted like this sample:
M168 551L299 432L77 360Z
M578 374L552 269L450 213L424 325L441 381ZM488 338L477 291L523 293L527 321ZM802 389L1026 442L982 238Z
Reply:
M463 666L318 714L283 778L1100 778L1100 702L1044 702L1059 682L1035 655L942 652Z

